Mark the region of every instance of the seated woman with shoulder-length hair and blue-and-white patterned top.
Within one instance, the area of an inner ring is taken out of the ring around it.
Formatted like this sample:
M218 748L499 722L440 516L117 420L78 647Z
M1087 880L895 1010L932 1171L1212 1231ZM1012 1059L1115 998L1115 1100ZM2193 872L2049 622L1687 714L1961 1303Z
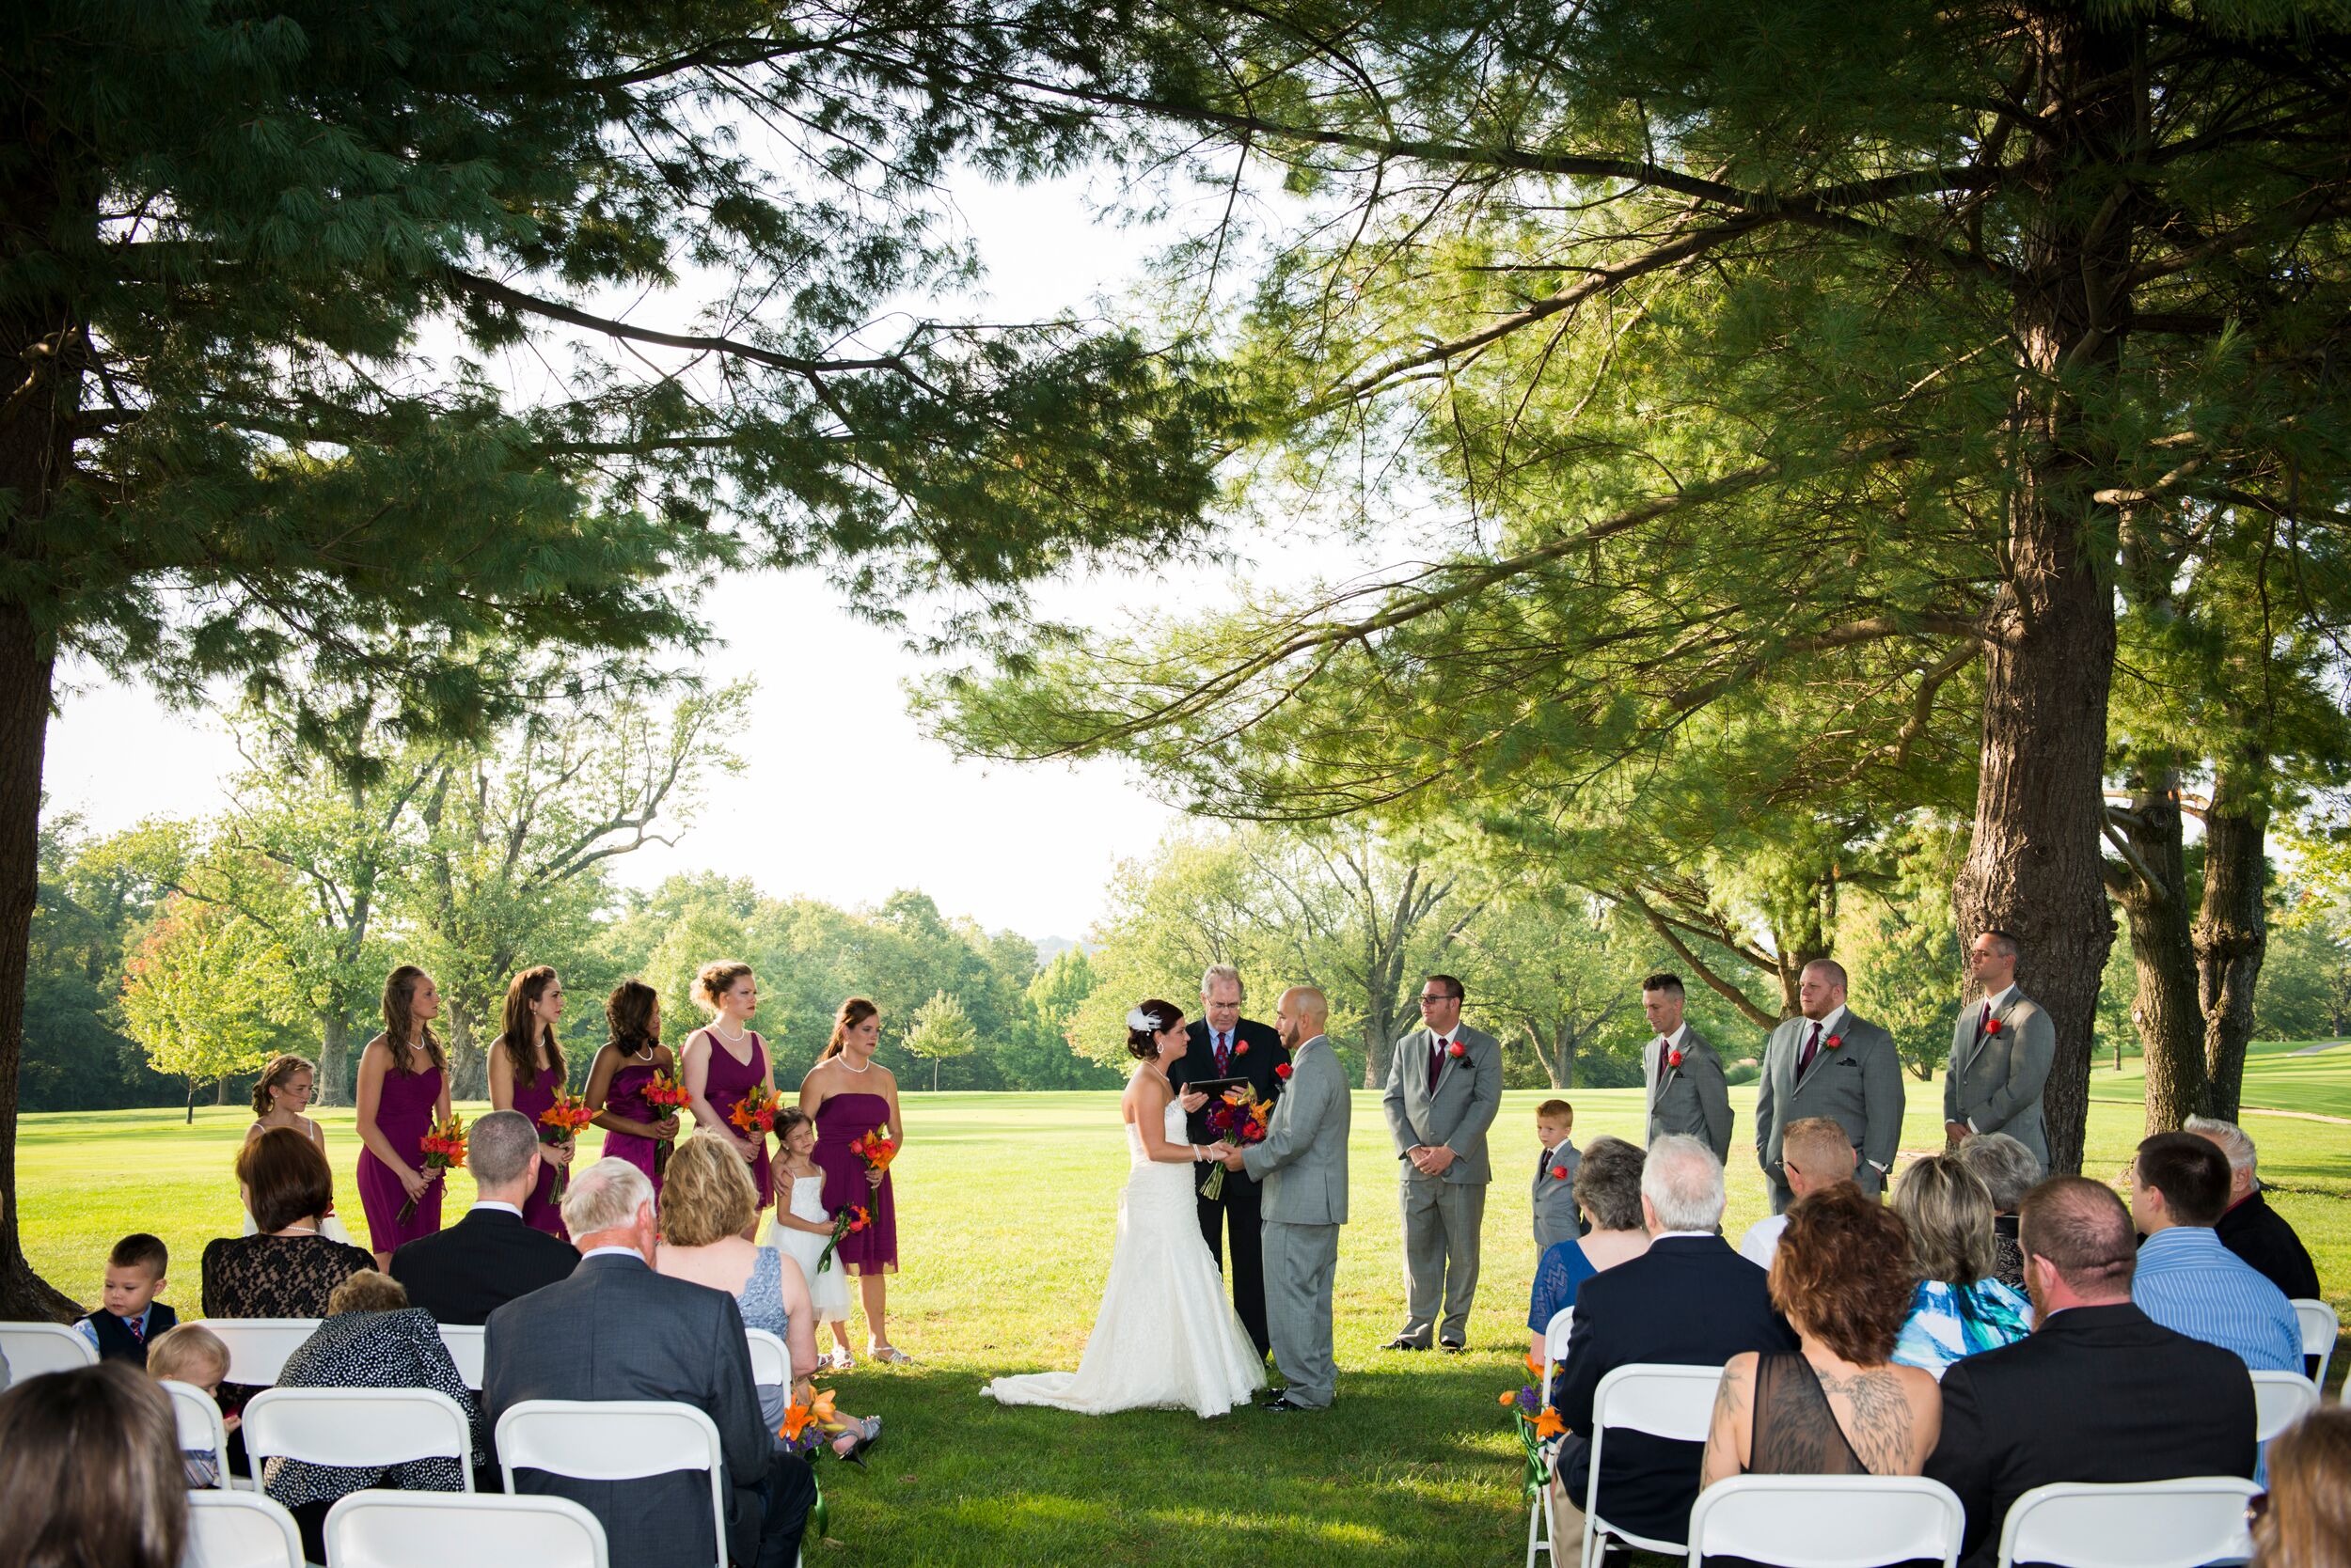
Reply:
M1961 1356L2015 1345L2034 1305L1991 1276L1991 1192L1956 1154L1928 1154L1895 1185L1918 1291L1895 1361L1935 1378Z

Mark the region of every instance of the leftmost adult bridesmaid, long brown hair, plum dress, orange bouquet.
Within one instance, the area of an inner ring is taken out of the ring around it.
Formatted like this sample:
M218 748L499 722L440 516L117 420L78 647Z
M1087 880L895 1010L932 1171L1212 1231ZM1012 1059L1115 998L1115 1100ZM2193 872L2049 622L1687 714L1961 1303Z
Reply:
M402 964L383 980L383 1034L360 1053L360 1206L376 1267L393 1267L402 1241L440 1229L442 1173L426 1171L423 1140L449 1119L449 1058L433 1020L440 987ZM416 1199L404 1222L400 1206Z

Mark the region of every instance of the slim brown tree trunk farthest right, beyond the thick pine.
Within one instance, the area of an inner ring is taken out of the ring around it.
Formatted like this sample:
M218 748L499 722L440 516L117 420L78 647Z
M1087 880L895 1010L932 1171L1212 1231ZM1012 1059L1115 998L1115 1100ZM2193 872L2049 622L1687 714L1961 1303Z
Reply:
M2205 816L2205 886L2196 910L2196 999L2203 1011L2208 1114L2236 1121L2252 1041L2252 987L2269 954L2266 757L2222 762Z

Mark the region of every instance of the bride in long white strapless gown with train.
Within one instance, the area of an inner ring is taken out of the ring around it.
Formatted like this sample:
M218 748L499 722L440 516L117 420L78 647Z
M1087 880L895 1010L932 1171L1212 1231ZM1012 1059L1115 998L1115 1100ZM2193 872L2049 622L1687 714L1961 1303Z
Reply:
M1183 1013L1145 1001L1126 1016L1126 1051L1143 1060L1119 1098L1131 1173L1119 1197L1110 1284L1074 1373L997 1378L980 1392L1006 1406L1081 1415L1180 1408L1223 1415L1265 1387L1265 1361L1225 1300L1225 1279L1199 1234L1183 1105L1168 1065L1185 1053Z

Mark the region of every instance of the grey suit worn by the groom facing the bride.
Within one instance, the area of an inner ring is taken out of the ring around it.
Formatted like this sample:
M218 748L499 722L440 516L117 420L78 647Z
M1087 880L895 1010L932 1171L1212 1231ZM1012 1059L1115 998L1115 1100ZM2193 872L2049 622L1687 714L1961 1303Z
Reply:
M1324 1034L1291 1056L1291 1086L1274 1100L1265 1143L1241 1166L1265 1182L1265 1326L1291 1403L1321 1410L1338 1394L1331 1286L1338 1227L1347 1222L1347 1070Z

